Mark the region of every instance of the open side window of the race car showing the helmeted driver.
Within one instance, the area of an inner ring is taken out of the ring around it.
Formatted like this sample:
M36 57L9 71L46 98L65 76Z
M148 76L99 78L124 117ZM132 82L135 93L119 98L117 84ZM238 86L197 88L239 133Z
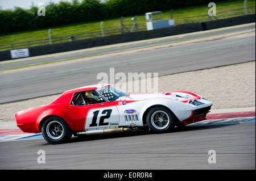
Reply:
M96 91L84 91L84 92L76 92L73 95L71 104L76 106L85 106L89 104L98 104L106 102L100 95L97 94Z

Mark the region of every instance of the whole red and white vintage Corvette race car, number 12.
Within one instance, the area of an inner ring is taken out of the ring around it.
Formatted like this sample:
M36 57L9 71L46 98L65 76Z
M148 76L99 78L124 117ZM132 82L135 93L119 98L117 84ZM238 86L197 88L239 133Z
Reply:
M170 132L175 126L205 120L212 102L185 91L127 94L111 85L65 91L53 102L15 113L23 132L40 133L51 144L75 136L150 129Z

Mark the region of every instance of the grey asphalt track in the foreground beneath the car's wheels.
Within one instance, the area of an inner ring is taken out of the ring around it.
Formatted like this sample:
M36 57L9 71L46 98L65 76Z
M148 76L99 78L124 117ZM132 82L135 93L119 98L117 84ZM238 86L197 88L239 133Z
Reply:
M61 145L48 144L43 138L0 142L0 148L1 170L255 169L255 119L253 123L175 128L165 134L72 137ZM39 150L45 153L45 163L38 163ZM209 150L216 152L216 163L208 162Z

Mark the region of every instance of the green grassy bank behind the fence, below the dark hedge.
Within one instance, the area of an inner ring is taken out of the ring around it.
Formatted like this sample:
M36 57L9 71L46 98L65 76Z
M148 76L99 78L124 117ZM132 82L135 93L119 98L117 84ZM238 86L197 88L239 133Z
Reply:
M248 11L248 14L255 14L255 1L253 0L247 1L247 11ZM216 3L216 14L218 19L244 15L245 12L243 9L243 0L225 1L225 2ZM133 26L133 20L131 20L131 18L133 17L134 16L126 16L125 18L123 18L123 24L125 24L128 30L131 30L131 27ZM209 20L208 5L189 7L185 9L176 9L173 11L173 17L175 19L175 25L208 21ZM163 11L163 19L170 19L170 11ZM106 19L102 21L104 22L103 24L104 30L121 28L120 18ZM101 31L100 23L101 23L101 20L96 22L77 23L77 24L69 24L67 26L52 27L51 36L54 40L54 38L61 37L61 36L69 37L69 36L77 35L80 33L100 32ZM146 19L144 14L137 15L137 24L138 24L139 31L146 30ZM46 41L48 41L48 28L41 29L41 30L2 34L0 35L0 46L6 45L6 44L14 44L14 43L23 43L23 42L26 43L27 41L43 40L43 39L46 39ZM56 39L56 40L59 41L59 39ZM68 40L63 40L63 41L68 41ZM43 42L42 42L42 45L43 45ZM24 44L19 48L26 47L26 46L27 44ZM8 48L0 49L0 50L7 50L7 49Z

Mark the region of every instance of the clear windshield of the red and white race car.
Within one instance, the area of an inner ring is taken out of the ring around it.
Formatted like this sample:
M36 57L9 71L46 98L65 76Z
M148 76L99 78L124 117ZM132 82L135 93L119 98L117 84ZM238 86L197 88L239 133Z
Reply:
M129 95L126 92L122 92L121 90L113 87L113 86L104 86L102 89L98 89L98 91L105 96L110 102L117 100L122 96Z

